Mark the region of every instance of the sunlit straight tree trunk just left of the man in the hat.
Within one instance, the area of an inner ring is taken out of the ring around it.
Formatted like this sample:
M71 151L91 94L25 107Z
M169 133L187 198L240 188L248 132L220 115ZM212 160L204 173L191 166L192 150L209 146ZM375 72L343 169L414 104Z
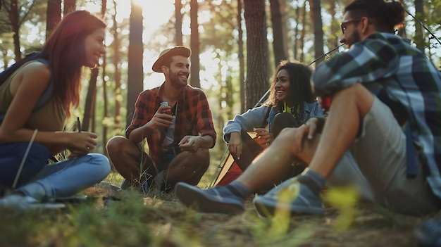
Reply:
M144 72L142 66L142 8L130 1L132 11L130 11L130 34L129 34L129 55L128 55L128 98L126 126L130 125L130 120L135 113L135 102L139 93L144 88Z

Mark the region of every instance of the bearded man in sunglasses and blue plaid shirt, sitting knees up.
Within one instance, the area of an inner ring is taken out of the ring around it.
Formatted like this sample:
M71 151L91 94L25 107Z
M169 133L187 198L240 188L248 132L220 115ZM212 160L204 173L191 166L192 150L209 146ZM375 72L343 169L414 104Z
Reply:
M403 21L404 8L397 1L349 4L340 39L349 50L322 63L313 75L316 94L331 99L328 118L283 129L251 163L261 167L252 174L245 171L227 186L206 190L178 183L178 198L205 212L239 213L245 198L301 158L309 168L256 196L254 208L265 217L279 208L323 214L320 193L335 167L344 167L337 164L351 162L345 158L349 151L380 205L407 215L437 212L441 74L425 54L393 34Z

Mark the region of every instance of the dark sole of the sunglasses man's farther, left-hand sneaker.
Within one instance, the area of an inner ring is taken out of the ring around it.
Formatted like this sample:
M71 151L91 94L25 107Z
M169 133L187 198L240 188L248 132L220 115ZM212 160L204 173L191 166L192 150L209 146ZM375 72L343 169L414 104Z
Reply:
M223 198L221 201L216 196L202 194L198 190L199 188L190 184L178 183L175 186L175 195L183 204L202 213L237 215L244 212L243 206L235 201L228 198Z

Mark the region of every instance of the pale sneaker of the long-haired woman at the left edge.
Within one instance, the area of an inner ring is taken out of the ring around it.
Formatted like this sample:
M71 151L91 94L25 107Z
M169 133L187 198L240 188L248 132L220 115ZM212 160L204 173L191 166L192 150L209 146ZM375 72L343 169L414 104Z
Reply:
M58 209L66 208L66 205L64 203L40 203L30 196L12 194L0 198L0 208L14 208L17 210Z

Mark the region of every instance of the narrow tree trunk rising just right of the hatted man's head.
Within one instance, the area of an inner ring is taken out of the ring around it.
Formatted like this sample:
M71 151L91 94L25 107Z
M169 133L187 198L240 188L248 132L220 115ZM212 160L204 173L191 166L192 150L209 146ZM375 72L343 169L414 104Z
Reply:
M197 11L199 5L197 0L190 0L190 49L192 56L190 57L190 85L193 87L201 87L199 82L199 23L197 22Z

